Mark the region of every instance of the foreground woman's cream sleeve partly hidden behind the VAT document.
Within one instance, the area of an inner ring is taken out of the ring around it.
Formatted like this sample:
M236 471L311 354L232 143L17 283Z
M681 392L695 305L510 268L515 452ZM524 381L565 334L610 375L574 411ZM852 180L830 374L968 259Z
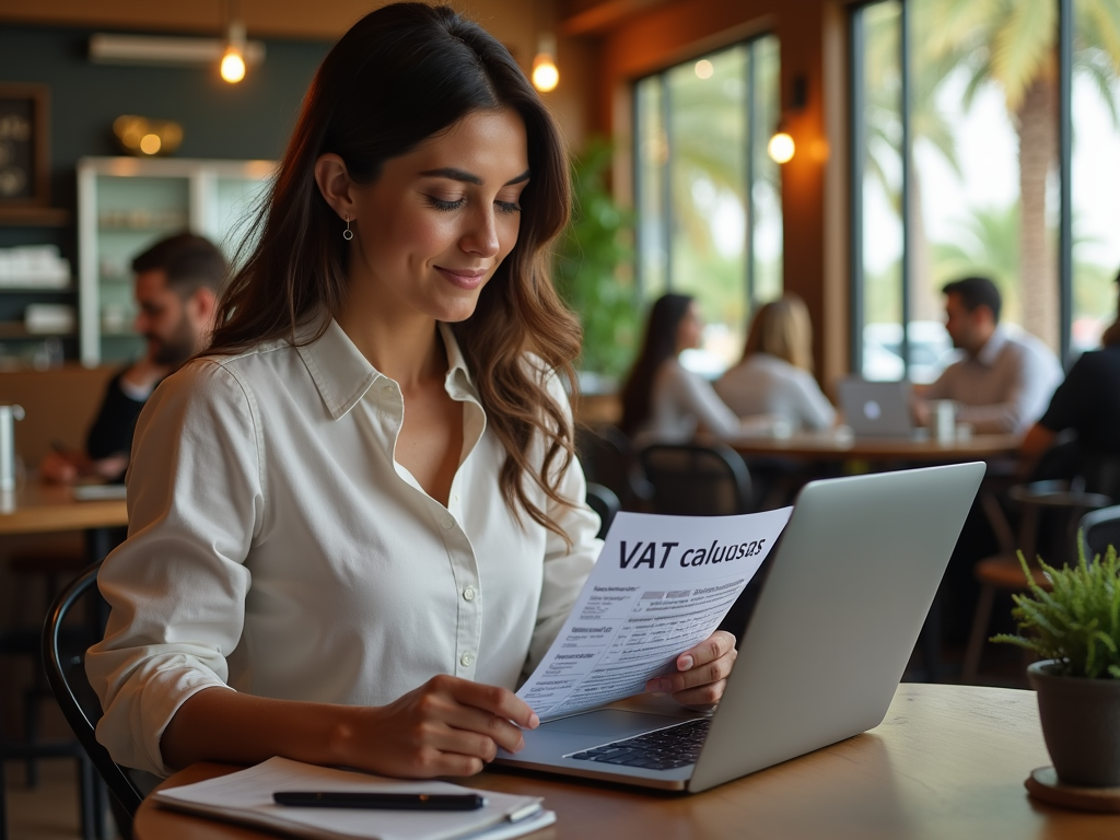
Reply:
M551 376L548 386L552 398L568 411L570 421L568 395L560 386L559 380ZM587 479L577 458L572 458L558 489L564 503L550 501L547 513L560 525L571 544L569 545L559 534L547 532L544 578L536 610L536 625L529 647L529 661L525 664L526 675L532 673L548 653L603 549L603 541L597 536L599 516L587 505Z

